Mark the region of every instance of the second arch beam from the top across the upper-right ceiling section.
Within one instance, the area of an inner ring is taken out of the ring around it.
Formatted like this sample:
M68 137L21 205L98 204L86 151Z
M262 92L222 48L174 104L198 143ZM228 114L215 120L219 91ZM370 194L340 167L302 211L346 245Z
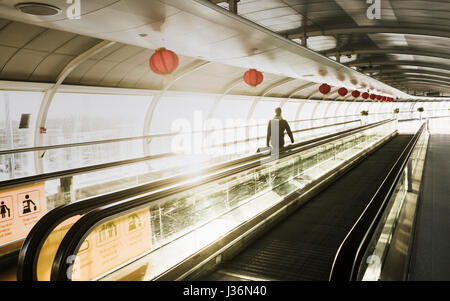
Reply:
M450 53L446 52L434 52L434 51L426 51L426 50L418 50L418 49L348 49L348 50L333 50L322 52L323 55L329 56L337 56L337 55L352 55L352 54L406 54L406 55L421 55L421 56L429 56L429 57L437 57L443 59L450 59Z

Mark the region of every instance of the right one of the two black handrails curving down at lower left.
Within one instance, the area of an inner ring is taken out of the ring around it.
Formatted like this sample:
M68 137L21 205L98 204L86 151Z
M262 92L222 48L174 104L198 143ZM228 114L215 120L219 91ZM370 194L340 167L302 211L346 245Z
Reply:
M359 127L358 129L353 129L351 131L346 131L345 133L340 133L339 135L332 135L333 137L326 138L314 143L310 143L305 146L297 147L296 145L290 145L286 147L286 151L280 152L277 158L268 157L263 163L275 161L283 157L291 156L295 153L317 147L328 143L330 141L343 138L369 128L373 128L388 122L392 119L377 122L374 124ZM160 191L155 191L146 195L144 197L132 198L124 201L119 201L106 206L98 207L82 218L80 218L67 232L62 242L59 245L58 251L55 255L55 260L52 265L51 280L70 280L70 275L67 275L67 271L71 264L67 262L67 258L70 255L76 254L83 243L84 239L89 235L89 233L102 223L108 220L114 219L118 216L126 214L128 212L136 211L141 208L146 208L148 205L154 201L157 201L163 197L191 189L195 186L202 185L205 183L217 181L228 177L230 175L238 174L243 171L255 168L261 165L261 159L254 160L253 162L246 163L242 166L237 166L229 170L221 171L220 173L215 173L211 175L206 175L203 179L196 183L182 183L181 185L175 185L169 188L162 189Z

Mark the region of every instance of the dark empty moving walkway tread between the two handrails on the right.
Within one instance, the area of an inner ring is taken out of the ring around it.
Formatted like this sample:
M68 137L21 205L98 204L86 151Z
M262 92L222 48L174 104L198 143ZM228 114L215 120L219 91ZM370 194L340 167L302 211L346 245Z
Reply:
M393 138L200 280L328 280L340 244L412 137Z

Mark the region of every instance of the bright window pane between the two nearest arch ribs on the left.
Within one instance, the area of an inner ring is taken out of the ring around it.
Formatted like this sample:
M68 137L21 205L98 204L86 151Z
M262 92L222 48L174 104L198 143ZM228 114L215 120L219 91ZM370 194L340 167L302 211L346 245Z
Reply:
M56 93L44 145L141 136L152 96Z

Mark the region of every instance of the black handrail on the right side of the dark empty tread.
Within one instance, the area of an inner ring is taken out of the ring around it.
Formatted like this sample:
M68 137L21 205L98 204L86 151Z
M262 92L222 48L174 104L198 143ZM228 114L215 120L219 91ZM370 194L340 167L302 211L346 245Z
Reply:
M330 271L330 281L357 280L358 270L371 238L380 223L389 200L395 192L395 187L424 129L425 123L422 124L417 133L409 141L377 192L341 243Z

